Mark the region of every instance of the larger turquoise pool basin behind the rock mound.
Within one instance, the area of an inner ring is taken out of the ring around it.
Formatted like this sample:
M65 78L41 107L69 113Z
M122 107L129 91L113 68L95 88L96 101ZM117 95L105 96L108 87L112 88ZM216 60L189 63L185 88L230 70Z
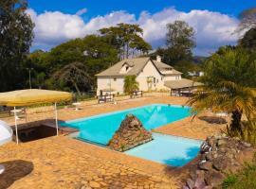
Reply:
M121 112L111 112L67 121L62 123L61 126L79 129L78 138L105 146L115 131L119 129L121 121L129 113L136 115L145 129L150 130L190 116L191 109L189 107L153 104Z

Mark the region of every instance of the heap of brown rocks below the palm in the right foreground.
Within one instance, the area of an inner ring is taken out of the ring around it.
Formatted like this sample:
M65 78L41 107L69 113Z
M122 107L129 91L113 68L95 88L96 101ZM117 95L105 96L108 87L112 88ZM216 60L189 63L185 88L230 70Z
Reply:
M238 138L212 136L201 146L198 163L190 171L183 189L211 189L222 183L230 172L252 161L255 148Z

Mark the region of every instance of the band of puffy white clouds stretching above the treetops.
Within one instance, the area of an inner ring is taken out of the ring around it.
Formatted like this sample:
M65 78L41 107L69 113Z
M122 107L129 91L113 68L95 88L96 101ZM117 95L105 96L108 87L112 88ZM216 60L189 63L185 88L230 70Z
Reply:
M77 14L71 15L60 11L37 14L33 9L28 9L27 13L35 23L34 46L49 48L70 39L96 33L101 27L130 23L140 25L144 29L144 39L158 47L165 44L166 25L175 20L184 20L195 29L196 54L212 53L221 45L236 43L238 38L233 34L238 24L236 18L209 10L182 12L169 8L155 14L142 11L138 18L126 11L114 11L94 17L87 23L81 17L85 10L79 10Z

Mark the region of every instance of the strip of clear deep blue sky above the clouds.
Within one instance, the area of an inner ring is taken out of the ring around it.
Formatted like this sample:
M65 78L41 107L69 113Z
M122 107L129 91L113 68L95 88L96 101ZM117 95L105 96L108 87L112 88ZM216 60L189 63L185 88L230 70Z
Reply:
M208 9L229 15L238 15L243 9L256 6L254 0L29 0L29 7L42 13L45 10L59 10L64 13L76 13L86 8L89 18L104 15L115 10L127 10L139 15L142 10L152 13L164 8L178 10Z

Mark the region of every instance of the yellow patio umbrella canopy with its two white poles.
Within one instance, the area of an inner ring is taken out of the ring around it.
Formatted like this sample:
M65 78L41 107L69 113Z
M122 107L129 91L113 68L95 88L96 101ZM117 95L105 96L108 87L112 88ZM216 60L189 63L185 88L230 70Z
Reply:
M16 129L16 141L18 144L18 130L17 130L17 112L16 107L24 107L45 103L54 103L55 108L55 121L58 135L58 116L57 116L57 103L63 101L69 101L72 99L72 94L59 91L28 89L20 91L12 91L6 93L0 93L0 106L13 107L15 129Z

